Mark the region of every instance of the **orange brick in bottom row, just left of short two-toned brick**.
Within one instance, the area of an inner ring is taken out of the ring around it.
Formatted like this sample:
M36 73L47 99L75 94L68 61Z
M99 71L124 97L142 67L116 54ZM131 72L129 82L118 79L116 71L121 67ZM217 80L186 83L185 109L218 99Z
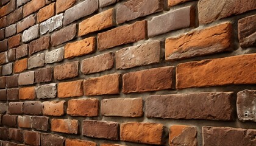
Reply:
M161 145L163 128L160 123L121 123L120 139L121 141Z

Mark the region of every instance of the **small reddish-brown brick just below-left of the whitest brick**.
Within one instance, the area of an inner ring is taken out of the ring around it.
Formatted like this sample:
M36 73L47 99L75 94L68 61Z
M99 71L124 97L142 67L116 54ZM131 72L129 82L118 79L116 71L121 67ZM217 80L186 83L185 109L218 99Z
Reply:
M37 40L31 41L29 43L29 55L32 55L41 50L49 49L50 46L50 37L44 36L38 38Z

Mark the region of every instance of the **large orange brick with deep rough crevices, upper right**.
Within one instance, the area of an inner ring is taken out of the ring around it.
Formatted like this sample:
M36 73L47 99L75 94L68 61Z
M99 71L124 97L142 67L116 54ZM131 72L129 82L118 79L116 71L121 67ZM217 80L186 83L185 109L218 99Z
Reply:
M179 60L230 50L232 24L217 26L167 38L165 41L165 60Z

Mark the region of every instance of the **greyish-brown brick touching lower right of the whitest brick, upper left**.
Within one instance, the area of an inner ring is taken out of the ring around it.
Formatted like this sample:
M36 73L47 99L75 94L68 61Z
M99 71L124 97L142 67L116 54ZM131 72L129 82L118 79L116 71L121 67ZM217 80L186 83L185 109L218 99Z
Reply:
M76 24L60 29L51 35L52 46L58 46L66 41L72 40L76 36Z

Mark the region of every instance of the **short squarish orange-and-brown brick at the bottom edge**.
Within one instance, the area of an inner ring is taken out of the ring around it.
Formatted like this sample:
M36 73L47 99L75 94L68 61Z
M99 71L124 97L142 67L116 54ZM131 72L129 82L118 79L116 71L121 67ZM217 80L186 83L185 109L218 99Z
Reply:
M169 128L169 145L197 145L196 127L172 125Z

